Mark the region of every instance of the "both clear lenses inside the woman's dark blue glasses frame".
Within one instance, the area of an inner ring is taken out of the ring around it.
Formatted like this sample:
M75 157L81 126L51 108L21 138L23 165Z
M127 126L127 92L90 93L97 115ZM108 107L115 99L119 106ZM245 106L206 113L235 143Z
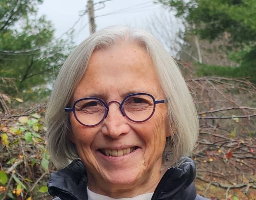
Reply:
M122 104L124 114L132 121L141 122L151 116L154 111L154 100L148 95L128 97ZM81 100L75 104L77 120L87 126L99 123L107 112L107 108L99 100Z

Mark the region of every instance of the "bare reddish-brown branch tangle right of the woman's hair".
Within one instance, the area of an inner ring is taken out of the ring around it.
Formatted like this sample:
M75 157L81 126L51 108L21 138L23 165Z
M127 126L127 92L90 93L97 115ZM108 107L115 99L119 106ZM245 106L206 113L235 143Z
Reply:
M225 189L218 198L233 199L230 189L239 189L239 199L256 199L256 86L243 79L198 78L189 64L177 62L199 109L200 133L192 157L197 179L207 183L200 193L215 197L213 185Z

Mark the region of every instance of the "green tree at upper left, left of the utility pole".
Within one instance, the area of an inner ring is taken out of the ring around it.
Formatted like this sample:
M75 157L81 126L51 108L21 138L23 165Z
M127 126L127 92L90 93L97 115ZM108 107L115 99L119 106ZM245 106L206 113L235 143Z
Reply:
M0 90L13 97L40 99L49 94L54 72L63 63L72 35L54 39L54 28L45 16L36 16L42 0L0 0L0 72L14 78L16 87ZM65 52L65 53L64 53Z

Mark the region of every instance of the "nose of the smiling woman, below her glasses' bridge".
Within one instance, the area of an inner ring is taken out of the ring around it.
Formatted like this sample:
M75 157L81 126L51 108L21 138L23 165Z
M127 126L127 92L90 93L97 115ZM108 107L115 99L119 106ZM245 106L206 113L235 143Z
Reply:
M119 102L111 101L108 106L108 115L103 122L102 134L117 139L119 136L129 133L130 126L127 123L128 120L119 109Z

